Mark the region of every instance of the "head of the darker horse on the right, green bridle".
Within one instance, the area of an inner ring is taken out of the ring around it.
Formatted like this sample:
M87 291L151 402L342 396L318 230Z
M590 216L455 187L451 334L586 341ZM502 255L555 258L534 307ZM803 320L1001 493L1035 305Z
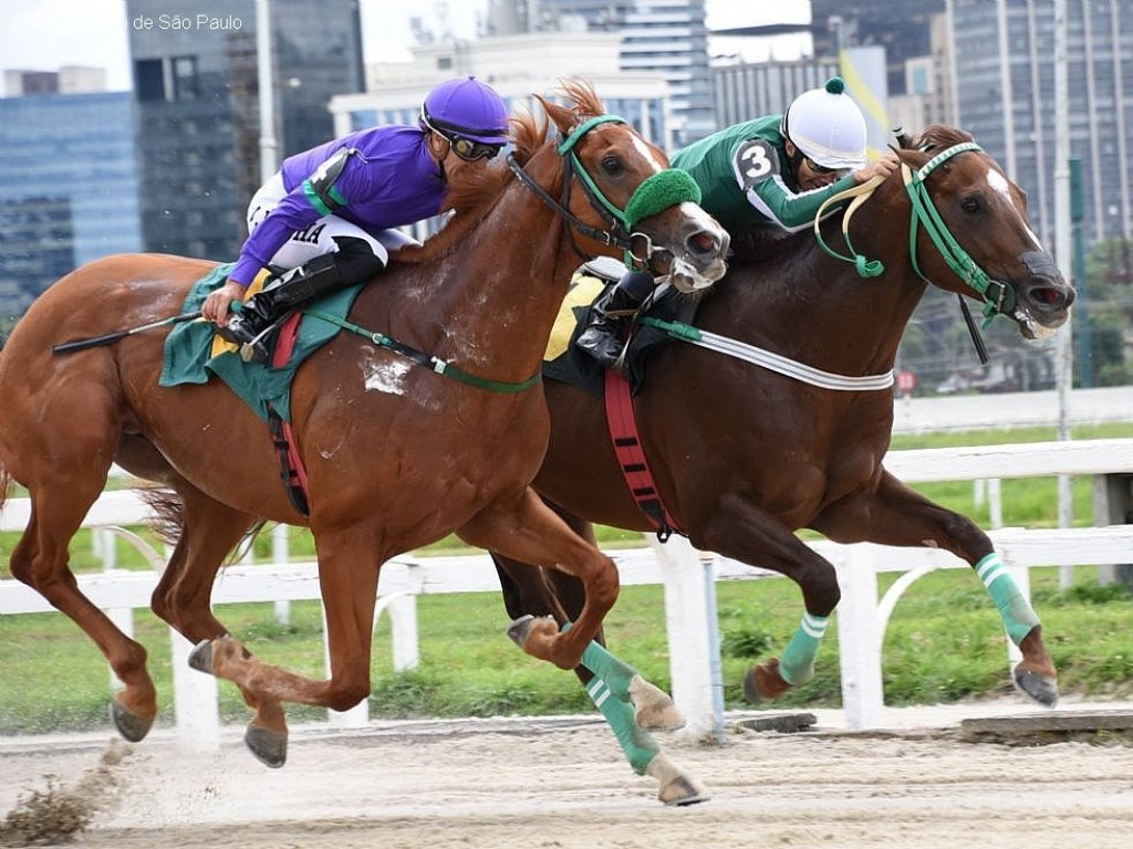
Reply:
M1026 198L970 135L930 127L898 149L913 205L913 266L936 286L981 300L1026 338L1060 327L1074 290L1026 222ZM915 238L915 241L913 239Z

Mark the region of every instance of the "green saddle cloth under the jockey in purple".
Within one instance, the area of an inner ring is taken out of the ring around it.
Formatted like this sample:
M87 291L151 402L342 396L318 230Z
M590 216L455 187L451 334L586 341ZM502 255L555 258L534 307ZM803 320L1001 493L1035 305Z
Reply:
M235 263L219 265L193 284L185 299L184 312L201 309L208 293L223 285ZM339 292L333 292L310 302L310 307L339 318L346 318L355 298L363 289L358 283ZM273 368L270 365L245 362L235 351L212 355L216 327L212 321L188 321L173 327L165 338L164 362L161 370L161 386L181 384L204 384L210 372L216 375L231 387L232 392L256 411L264 421L269 420L269 409L274 410L284 421L291 421L291 380L303 362L330 342L341 329L337 324L304 315L299 321L299 334L295 351L288 362Z

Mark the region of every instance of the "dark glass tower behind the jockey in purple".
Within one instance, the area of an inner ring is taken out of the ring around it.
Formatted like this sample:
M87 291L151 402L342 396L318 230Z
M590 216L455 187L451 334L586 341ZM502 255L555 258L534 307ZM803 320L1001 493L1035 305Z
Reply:
M231 259L259 186L254 0L127 0L147 250ZM357 0L272 0L279 158L327 140L330 98L363 87Z

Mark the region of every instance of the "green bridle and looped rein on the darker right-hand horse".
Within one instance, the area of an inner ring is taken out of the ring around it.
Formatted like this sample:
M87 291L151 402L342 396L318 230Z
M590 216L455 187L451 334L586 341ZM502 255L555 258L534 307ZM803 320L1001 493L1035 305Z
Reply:
M956 241L955 237L948 230L947 224L944 223L944 218L940 217L940 213L932 203L932 197L929 195L928 187L925 183L925 179L932 171L956 154L982 149L974 142L953 145L930 158L917 169L917 171L913 171L905 163L901 163L901 177L904 180L905 191L912 201L912 215L909 218L909 257L912 259L913 269L921 280L931 285L932 282L921 271L917 258L917 230L919 226L923 226L925 232L928 233L936 249L940 251L940 256L944 257L944 261L948 264L948 267L952 268L969 289L983 299L983 326L987 327L997 315L1011 312L1015 308L1015 290L1010 283L993 280L987 272L976 264L971 255L960 247L960 242ZM876 277L885 271L885 266L876 259L867 260L866 257L854 250L849 233L850 217L872 195L874 189L881 183L881 179L880 177L875 177L861 186L855 186L838 192L834 197L827 198L815 215L815 238L818 240L818 245L835 259L853 263L861 277ZM844 256L827 246L819 231L819 222L827 206L845 200L849 197L852 197L853 200L842 217L842 235L850 250L850 256Z

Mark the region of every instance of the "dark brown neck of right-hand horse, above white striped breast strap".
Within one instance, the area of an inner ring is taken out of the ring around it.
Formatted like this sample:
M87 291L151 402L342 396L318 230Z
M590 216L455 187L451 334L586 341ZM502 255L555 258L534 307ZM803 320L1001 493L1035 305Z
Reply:
M841 226L838 216L826 221L823 238L845 254ZM767 261L734 266L726 285L718 286L719 298L709 295L713 309L702 310L708 321L732 332L705 329L835 374L891 369L926 289L909 257L909 214L885 196L871 200L852 218L851 240L884 264L880 276L861 277L851 263L821 250L807 230L769 248L776 254Z

